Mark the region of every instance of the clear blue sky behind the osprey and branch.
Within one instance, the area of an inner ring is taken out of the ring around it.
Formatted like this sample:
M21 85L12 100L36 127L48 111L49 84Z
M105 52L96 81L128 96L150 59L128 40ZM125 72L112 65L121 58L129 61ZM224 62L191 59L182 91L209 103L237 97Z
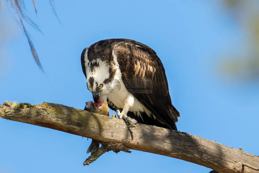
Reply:
M160 55L173 105L181 114L176 123L179 131L259 155L255 136L259 82L225 77L220 71L226 55L245 51L248 35L223 1L55 0L62 25L48 1L35 3L38 18L29 0L28 14L43 34L27 28L45 74L36 66L27 39L2 2L0 19L8 24L10 38L0 44L0 104L5 100L55 102L83 109L92 94L80 64L82 50L102 39L134 39ZM91 140L87 138L5 119L0 119L0 131L0 172L4 173L126 173L132 172L126 166L129 162L136 172L211 170L135 150L105 153L83 166L89 156L86 149Z

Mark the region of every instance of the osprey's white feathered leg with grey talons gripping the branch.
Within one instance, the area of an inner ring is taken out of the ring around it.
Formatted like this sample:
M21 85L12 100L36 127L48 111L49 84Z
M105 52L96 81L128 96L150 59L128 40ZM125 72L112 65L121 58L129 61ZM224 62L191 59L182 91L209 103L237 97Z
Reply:
M133 96L128 96L125 100L123 110L121 112L120 110L116 110L118 117L120 119L125 120L127 125L137 124L137 121L135 119L127 116L127 113L129 112L129 109L133 106L133 103L134 103Z

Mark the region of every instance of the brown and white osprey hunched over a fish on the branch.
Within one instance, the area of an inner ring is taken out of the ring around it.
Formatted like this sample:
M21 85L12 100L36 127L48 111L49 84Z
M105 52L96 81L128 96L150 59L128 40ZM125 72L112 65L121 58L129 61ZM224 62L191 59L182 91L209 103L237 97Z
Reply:
M177 130L164 66L150 47L130 39L106 39L81 55L95 106L108 102L119 118Z

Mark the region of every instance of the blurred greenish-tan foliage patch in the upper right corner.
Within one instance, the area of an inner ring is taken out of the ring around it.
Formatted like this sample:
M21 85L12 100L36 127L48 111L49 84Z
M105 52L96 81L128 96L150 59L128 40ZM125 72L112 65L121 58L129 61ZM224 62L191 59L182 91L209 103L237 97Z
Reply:
M222 72L225 76L240 80L259 79L259 3L258 1L224 0L227 9L235 13L237 23L248 35L243 47L244 56L230 55L222 61ZM233 10L236 9L236 10ZM238 14L238 15L237 15ZM240 51L236 49L236 51ZM243 51L243 50L242 50ZM240 53L241 54L241 53ZM242 54L243 55L243 54Z

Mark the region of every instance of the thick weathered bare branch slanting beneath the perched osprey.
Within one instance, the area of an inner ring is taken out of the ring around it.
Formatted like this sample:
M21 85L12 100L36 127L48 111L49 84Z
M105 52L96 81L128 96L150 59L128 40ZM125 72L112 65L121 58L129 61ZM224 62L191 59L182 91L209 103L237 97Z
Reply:
M258 172L249 166L258 167L259 157L240 149L161 127L145 124L127 127L118 118L55 103L30 105L5 102L1 105L0 117L105 143L115 142L118 146L186 160L217 172Z

